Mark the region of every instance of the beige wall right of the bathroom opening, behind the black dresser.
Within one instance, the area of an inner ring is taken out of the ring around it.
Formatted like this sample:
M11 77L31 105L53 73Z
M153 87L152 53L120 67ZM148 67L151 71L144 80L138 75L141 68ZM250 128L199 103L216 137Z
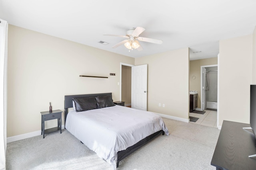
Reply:
M250 122L252 67L252 35L220 41L219 125L223 120Z

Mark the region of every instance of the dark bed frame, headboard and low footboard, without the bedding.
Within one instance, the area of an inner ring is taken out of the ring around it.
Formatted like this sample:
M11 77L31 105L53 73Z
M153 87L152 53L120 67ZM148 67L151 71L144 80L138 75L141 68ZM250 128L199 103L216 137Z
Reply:
M66 118L68 115L68 108L73 107L73 98L88 98L88 97L96 97L96 96L106 96L110 95L112 97L112 93L100 93L100 94L80 94L80 95L69 95L69 96L64 96L64 123L66 126ZM132 152L135 150L139 149L140 147L144 146L146 143L149 141L152 141L155 137L158 135L164 135L164 131L160 130L156 133L153 133L152 135L149 135L148 137L145 137L135 145L128 147L126 150L122 150L117 152L117 164L116 167L118 167L120 160L124 159L126 156L130 155Z

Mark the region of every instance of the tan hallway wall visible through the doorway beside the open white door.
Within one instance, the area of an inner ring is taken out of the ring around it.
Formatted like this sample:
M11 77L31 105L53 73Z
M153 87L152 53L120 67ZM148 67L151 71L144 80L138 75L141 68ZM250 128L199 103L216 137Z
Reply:
M131 104L132 93L132 67L122 65L122 101L125 105Z

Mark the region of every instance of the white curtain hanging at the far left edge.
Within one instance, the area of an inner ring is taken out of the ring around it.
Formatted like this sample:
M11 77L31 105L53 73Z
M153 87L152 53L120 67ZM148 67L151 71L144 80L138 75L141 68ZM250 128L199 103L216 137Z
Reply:
M2 19L0 21L0 170L2 170L6 165L8 23Z

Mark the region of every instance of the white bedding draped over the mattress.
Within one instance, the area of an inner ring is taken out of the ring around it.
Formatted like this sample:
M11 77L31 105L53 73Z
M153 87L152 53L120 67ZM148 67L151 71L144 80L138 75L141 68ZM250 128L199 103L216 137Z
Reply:
M116 169L118 151L160 130L169 135L156 113L118 105L81 112L71 110L66 129L113 169Z

